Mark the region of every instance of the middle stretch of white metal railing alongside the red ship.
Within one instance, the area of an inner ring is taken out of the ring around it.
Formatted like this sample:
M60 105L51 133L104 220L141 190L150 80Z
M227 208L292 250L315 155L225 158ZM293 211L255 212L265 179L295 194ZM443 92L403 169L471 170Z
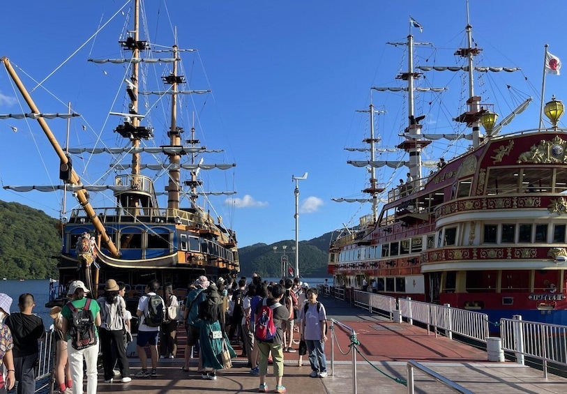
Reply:
M449 339L453 339L453 333L479 342L486 343L489 336L488 315L472 310L451 308L451 305L437 305L413 301L411 298L398 298L400 315L408 319L409 324L414 320L427 325L428 334L430 327L434 328L435 336L438 329L445 331Z

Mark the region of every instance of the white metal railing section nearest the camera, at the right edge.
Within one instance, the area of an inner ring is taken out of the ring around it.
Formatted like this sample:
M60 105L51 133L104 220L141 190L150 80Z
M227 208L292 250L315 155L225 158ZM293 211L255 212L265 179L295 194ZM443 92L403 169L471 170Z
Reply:
M547 379L547 363L567 367L567 326L523 321L520 315L500 319L501 348L515 353L516 361L524 365L525 358L542 361Z

